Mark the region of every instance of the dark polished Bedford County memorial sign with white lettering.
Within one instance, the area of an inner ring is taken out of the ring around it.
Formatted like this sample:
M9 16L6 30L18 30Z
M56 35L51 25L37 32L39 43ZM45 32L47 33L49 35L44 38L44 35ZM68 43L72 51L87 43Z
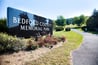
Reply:
M38 15L11 7L7 8L7 27L9 34L18 37L43 36L53 33L53 22Z

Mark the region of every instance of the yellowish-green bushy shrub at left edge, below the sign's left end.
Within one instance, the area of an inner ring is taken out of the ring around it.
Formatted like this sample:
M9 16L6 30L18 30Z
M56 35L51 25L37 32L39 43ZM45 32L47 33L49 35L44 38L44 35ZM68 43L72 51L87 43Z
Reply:
M8 34L0 33L0 52L19 51L22 48L22 40Z

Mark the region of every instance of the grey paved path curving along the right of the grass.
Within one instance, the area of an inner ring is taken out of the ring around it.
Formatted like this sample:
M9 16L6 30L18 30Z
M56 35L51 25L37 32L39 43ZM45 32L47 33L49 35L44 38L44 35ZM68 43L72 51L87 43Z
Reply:
M73 65L98 65L98 35L75 29L73 31L84 37L81 46L72 52Z

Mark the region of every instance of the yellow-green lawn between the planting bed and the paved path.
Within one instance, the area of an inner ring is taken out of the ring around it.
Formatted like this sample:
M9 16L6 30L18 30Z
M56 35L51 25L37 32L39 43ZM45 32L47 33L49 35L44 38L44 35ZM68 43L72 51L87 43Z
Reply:
M65 36L66 42L63 46L52 49L51 52L46 53L43 57L34 60L29 65L70 65L71 57L70 53L72 50L80 46L82 42L82 35L73 31L65 32L54 32L54 36Z

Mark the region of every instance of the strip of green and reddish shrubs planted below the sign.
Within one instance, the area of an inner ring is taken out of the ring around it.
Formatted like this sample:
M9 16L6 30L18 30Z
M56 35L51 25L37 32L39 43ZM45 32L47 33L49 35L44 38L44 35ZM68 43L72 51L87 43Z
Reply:
M29 51L39 47L52 48L58 42L65 42L65 37L54 37L47 35L45 37L39 37L37 41L34 38L21 39L15 36L10 36L5 33L0 33L0 53L6 52L18 52L18 51Z

